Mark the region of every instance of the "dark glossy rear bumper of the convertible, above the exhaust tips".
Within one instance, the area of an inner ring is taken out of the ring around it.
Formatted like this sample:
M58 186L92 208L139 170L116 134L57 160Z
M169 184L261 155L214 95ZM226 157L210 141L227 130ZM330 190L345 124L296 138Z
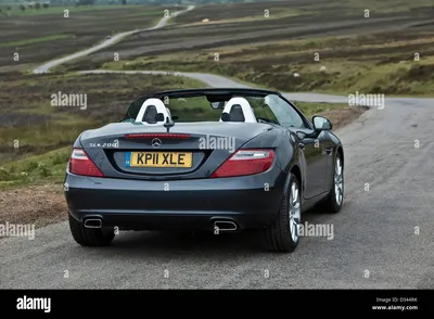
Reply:
M267 227L279 210L285 175L144 181L66 175L69 214L100 218L126 230L213 229L229 220L239 229Z

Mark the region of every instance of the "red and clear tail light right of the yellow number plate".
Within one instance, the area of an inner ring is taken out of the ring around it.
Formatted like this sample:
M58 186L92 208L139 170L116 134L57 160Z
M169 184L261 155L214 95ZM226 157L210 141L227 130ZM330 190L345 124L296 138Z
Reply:
M240 150L230 156L210 178L254 175L266 171L275 160L272 150Z

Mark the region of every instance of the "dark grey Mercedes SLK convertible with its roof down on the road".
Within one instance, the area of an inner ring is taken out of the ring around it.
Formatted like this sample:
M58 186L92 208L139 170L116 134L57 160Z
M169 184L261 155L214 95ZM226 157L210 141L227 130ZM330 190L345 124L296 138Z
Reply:
M74 143L65 177L72 235L101 246L118 230L255 229L270 251L293 252L303 212L342 207L344 150L331 129L269 90L139 98L119 123Z

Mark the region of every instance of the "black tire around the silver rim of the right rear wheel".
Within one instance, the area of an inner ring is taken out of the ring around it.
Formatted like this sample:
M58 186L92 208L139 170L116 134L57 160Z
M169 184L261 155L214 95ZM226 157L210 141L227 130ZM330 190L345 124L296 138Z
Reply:
M284 192L276 220L265 230L265 243L268 251L277 253L292 253L298 245L299 241L298 228L297 227L294 228L294 230L297 232L296 241L294 241L292 239L292 230L290 227L290 217L289 217L291 187L294 182L296 183L298 189L299 205L302 204L299 182L295 177L295 175L291 174L290 186ZM299 209L302 212L302 207L299 207ZM299 222L301 218L298 218L298 225Z

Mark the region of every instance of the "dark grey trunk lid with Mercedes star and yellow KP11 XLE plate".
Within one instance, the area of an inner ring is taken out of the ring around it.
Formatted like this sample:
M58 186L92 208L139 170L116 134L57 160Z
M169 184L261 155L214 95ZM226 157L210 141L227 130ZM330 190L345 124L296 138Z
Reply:
M81 144L105 177L131 179L207 178L266 124L179 123L163 126L119 123L89 130Z

